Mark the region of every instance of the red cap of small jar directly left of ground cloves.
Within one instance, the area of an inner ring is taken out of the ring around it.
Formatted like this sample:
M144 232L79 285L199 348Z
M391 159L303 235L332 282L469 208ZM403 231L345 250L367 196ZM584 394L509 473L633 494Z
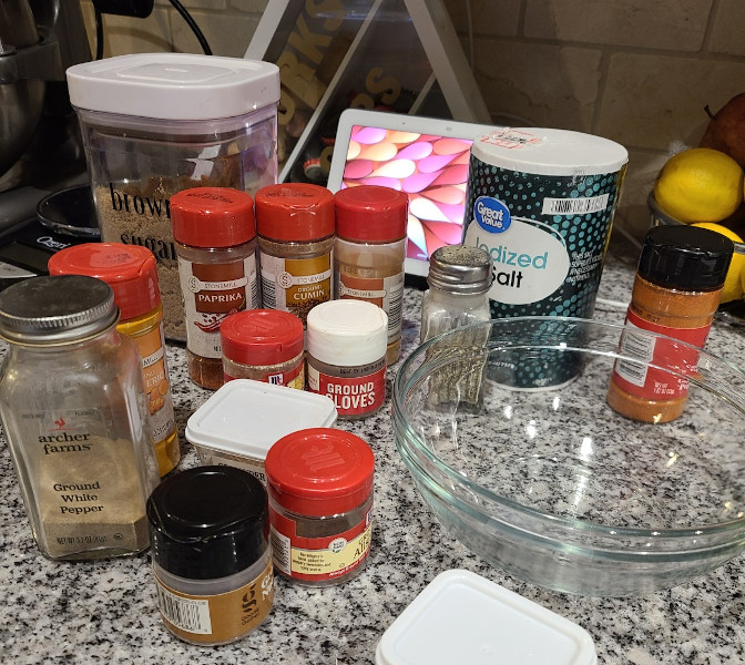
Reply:
M244 309L220 326L223 354L243 365L277 365L303 351L303 321L279 309Z

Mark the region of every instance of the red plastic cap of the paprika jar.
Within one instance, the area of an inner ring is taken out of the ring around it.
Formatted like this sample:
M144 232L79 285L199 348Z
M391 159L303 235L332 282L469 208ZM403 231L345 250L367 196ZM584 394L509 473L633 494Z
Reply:
M256 236L254 200L232 187L193 187L171 197L173 238L192 247L234 247Z

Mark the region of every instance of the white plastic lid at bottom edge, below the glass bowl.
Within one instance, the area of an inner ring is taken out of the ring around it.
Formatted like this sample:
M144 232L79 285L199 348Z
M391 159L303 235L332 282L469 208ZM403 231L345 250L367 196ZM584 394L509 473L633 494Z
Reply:
M468 571L446 571L384 633L376 665L594 665L575 623Z

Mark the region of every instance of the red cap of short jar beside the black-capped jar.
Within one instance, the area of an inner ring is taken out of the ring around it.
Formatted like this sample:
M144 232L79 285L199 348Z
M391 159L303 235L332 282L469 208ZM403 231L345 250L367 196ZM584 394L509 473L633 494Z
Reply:
M279 439L264 461L267 487L286 510L323 516L350 511L372 492L375 458L351 432L310 428Z

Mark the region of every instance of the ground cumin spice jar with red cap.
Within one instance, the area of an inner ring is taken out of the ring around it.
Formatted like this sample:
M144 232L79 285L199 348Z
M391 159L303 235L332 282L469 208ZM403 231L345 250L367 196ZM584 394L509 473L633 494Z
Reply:
M334 195L288 183L256 192L263 306L297 316L334 297Z

